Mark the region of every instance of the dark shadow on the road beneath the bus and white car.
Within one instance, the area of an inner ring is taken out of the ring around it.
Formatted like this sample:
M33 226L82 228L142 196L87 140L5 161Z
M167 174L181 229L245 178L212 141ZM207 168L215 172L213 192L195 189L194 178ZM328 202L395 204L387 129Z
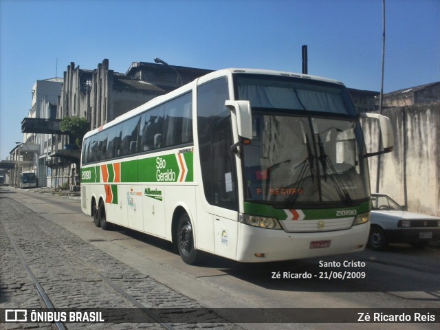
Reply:
M177 253L173 244L168 241L118 226L115 226L115 230L156 248ZM439 256L440 251L436 248L416 250L410 245L391 245L388 252L365 250L362 253L343 256L271 263L238 263L206 254L199 265L192 267L220 270L242 281L271 290L425 292L426 297L423 299L440 301L440 266L438 263L437 268L435 266L435 260L438 261ZM433 266L417 264L423 258L428 258ZM410 263L407 264L408 261ZM296 278L298 276L300 278Z

